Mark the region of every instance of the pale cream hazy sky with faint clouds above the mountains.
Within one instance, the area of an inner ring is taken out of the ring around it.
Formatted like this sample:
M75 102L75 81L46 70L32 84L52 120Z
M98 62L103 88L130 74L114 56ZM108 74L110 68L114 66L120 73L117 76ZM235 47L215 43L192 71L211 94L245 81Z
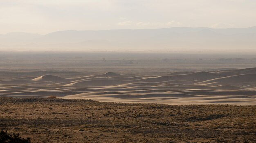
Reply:
M256 0L0 0L0 34L256 26Z

